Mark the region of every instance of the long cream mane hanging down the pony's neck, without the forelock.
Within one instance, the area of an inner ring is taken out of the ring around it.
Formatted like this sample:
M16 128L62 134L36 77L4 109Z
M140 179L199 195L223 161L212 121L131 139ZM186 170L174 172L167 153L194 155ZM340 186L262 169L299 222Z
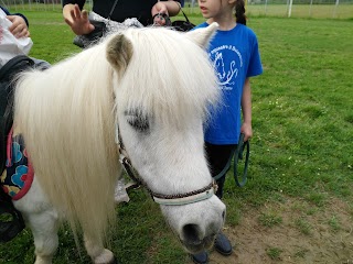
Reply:
M105 46L98 45L45 72L24 73L15 90L14 122L35 176L73 229L79 222L93 239L101 239L115 217L119 164L111 76Z

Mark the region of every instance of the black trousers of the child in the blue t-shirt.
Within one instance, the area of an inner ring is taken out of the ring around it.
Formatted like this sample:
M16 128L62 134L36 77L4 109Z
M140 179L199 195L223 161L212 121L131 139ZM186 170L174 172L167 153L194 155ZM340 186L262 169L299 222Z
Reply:
M212 177L217 176L227 165L229 158L232 158L232 154L234 153L236 145L214 145L205 142L205 151L206 158L208 162L208 167ZM227 169L228 170L228 169ZM227 173L225 170L223 175L216 180L218 185L218 189L216 191L216 196L222 199L223 197L223 187L225 183L225 175Z

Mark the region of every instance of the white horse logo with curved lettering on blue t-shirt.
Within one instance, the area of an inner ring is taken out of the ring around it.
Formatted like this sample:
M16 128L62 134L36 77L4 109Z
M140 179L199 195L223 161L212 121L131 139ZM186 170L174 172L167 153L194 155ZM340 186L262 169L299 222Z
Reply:
M222 45L208 53L216 69L218 86L222 90L233 90L239 68L243 67L243 57L233 45Z

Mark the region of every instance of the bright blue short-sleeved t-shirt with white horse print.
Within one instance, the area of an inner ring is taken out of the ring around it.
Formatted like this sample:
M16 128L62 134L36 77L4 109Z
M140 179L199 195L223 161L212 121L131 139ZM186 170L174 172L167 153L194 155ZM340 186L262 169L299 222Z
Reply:
M195 29L206 26L208 24L205 22ZM249 28L238 23L233 30L218 30L207 53L217 73L223 100L217 109L211 109L212 118L205 124L205 142L237 144L245 79L263 73L257 37Z

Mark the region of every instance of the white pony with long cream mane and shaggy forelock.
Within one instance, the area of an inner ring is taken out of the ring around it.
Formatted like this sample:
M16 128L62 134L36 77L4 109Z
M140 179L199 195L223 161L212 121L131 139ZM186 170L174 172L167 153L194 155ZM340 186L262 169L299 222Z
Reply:
M211 246L225 206L213 195L203 151L203 121L218 89L202 47L216 28L129 29L21 76L14 131L24 138L35 177L13 204L33 232L36 264L52 263L61 219L83 231L94 263L115 261L104 243L121 173L117 128L186 251Z

